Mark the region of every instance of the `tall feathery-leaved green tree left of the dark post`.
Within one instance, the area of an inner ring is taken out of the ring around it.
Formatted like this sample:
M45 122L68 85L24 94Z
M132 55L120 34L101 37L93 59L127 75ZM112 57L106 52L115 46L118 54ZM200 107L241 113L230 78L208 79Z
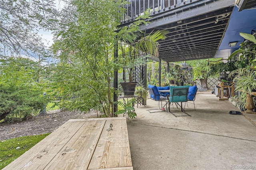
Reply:
M140 16L130 26L118 28L126 2L121 0L72 0L50 22L56 41L52 46L59 63L53 81L56 95L79 95L64 103L67 109L96 109L113 116L113 70L115 45L138 39L138 25L148 15ZM146 40L145 40L146 42Z

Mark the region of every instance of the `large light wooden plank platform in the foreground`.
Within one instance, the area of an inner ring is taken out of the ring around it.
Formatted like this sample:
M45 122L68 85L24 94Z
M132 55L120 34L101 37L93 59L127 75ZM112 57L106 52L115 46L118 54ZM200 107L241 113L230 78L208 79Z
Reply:
M4 169L133 170L126 118L70 119Z

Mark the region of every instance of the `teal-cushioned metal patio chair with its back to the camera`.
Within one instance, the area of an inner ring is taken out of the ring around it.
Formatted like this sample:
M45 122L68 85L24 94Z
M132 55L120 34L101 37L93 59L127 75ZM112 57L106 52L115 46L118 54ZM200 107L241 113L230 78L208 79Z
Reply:
M170 96L169 96L169 107L168 111L170 111L170 105L173 103L176 104L177 108L180 106L182 113L185 113L186 115L179 115L179 116L190 116L188 113L185 112L184 108L182 107L182 102L188 101L188 88L189 86L170 86ZM179 104L180 103L180 104ZM172 113L172 115L174 115ZM174 115L177 117L177 115Z

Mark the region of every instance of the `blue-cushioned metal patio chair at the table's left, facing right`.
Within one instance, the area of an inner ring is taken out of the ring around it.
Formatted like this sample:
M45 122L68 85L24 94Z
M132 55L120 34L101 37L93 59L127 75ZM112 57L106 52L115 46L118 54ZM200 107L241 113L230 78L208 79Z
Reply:
M155 85L148 85L148 91L150 93L150 99L152 99L154 101L158 101L159 109L161 109L163 107L162 101L165 101L164 106L166 106L166 109L167 109L168 98L163 96L162 94L160 94ZM160 102L161 102L161 108L160 108ZM159 109L150 109L150 110L159 110ZM154 112L151 112L150 110L147 110L147 111L149 111L150 113L154 113ZM160 112L160 111L156 111L156 112Z

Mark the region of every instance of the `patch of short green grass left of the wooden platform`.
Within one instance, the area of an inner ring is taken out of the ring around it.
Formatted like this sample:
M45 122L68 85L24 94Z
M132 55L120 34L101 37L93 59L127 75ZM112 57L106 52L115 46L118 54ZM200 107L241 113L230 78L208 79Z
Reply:
M0 169L10 164L49 134L24 136L0 141Z

